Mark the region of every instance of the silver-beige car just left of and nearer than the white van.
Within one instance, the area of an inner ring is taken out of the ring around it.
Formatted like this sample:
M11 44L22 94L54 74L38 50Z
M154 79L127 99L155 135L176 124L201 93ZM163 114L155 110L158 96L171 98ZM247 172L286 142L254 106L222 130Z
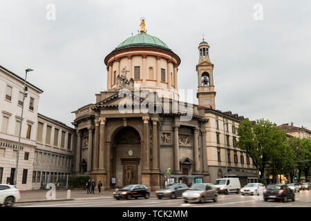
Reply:
M197 183L192 184L190 189L182 193L184 202L200 202L203 203L206 200L213 200L217 202L217 191L214 184L209 183Z

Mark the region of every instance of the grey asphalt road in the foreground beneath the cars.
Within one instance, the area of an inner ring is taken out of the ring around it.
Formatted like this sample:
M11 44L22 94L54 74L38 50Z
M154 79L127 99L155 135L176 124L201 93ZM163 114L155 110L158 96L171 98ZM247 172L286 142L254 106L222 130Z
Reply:
M267 201L262 199L262 196L241 195L229 193L228 195L218 195L218 201L212 200L200 203L185 203L182 198L169 199L163 198L139 198L138 200L115 200L97 199L97 200L66 200L55 202L28 202L17 203L14 206L23 207L311 207L311 191L301 191L295 193L296 200L292 202Z

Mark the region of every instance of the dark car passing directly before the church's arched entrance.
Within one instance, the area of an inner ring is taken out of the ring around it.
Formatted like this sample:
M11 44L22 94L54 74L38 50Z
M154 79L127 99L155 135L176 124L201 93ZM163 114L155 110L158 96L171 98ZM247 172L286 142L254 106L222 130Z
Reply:
M127 199L130 200L131 198L149 198L149 191L148 188L142 184L131 184L126 185L122 189L116 189L113 192L113 197L117 200L120 199Z

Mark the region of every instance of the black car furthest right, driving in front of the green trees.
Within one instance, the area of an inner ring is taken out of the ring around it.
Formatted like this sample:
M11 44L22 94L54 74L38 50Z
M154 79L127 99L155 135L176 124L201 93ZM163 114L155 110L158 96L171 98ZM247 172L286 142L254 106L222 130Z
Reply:
M295 201L295 193L285 184L269 184L263 191L263 199L267 200L288 200Z

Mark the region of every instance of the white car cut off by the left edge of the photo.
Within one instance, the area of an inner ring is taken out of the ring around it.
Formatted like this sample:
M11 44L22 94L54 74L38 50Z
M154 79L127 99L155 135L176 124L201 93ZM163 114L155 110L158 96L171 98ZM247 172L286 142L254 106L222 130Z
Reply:
M0 205L12 206L21 199L21 191L13 185L0 184Z

